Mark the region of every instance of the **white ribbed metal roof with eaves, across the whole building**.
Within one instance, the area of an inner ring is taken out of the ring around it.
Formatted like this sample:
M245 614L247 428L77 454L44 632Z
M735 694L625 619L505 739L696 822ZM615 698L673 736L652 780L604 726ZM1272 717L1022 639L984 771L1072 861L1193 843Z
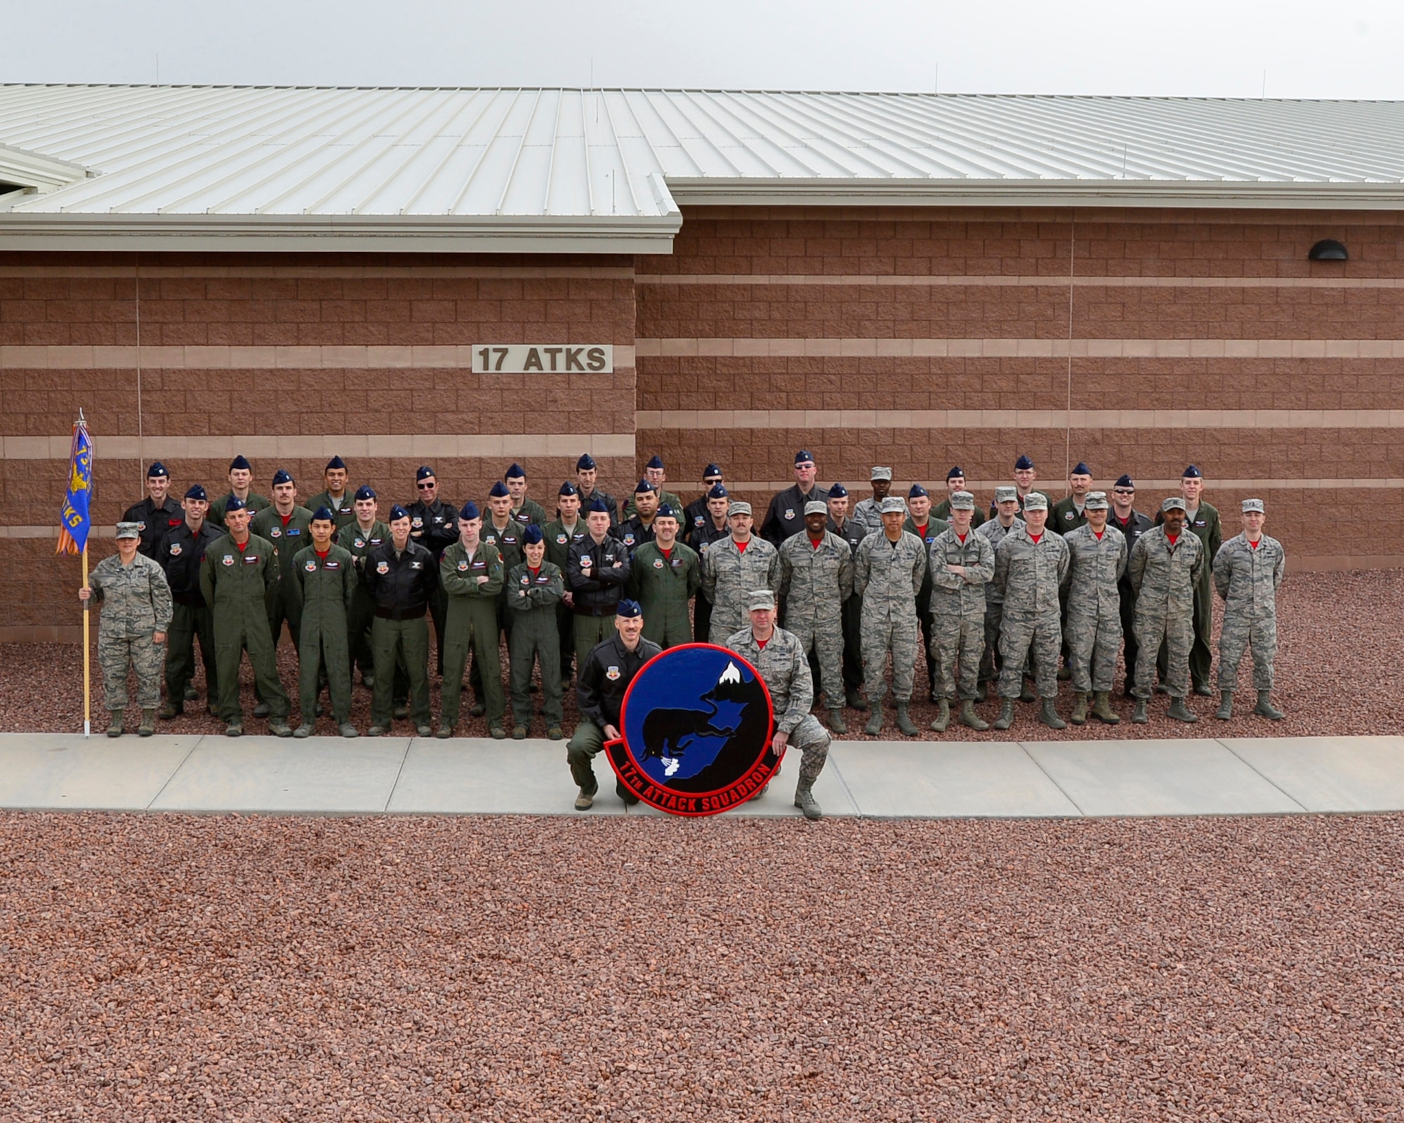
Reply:
M6 184L0 247L665 253L689 202L1404 209L1404 102L0 86Z

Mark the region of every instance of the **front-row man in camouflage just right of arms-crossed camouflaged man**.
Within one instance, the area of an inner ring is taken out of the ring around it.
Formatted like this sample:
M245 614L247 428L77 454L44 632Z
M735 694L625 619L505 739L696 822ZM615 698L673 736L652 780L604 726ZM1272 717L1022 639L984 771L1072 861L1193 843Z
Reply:
M1047 529L1047 497L1031 491L1024 500L1024 524L1009 531L994 552L994 584L1004 594L1000 632L1000 716L995 729L1014 724L1014 699L1024 682L1025 660L1033 657L1039 720L1049 729L1066 729L1057 716L1057 650L1063 640L1059 623L1059 585L1067 576L1067 543Z

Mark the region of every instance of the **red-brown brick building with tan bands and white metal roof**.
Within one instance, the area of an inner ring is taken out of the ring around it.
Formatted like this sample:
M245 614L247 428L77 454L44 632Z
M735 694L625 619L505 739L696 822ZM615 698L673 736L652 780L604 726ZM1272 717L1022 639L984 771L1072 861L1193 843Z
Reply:
M585 451L751 498L1022 452L1400 566L1401 213L1401 102L0 86L0 640L76 634L80 406L100 528L154 458L549 503Z

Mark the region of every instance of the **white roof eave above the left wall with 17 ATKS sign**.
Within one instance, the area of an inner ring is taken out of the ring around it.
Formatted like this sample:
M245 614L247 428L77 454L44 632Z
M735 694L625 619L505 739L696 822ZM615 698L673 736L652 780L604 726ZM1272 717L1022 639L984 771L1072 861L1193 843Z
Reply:
M0 250L670 254L681 215L0 213Z

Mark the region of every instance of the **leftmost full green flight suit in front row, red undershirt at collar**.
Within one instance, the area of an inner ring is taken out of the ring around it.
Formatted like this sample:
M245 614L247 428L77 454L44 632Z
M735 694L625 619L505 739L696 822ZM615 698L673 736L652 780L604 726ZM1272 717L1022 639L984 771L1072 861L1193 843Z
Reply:
M215 616L215 678L219 716L225 722L243 722L239 661L244 650L270 719L288 717L288 695L278 681L278 658L268 630L268 601L278 587L278 550L267 538L249 535L240 550L232 536L223 535L205 547L199 592Z

